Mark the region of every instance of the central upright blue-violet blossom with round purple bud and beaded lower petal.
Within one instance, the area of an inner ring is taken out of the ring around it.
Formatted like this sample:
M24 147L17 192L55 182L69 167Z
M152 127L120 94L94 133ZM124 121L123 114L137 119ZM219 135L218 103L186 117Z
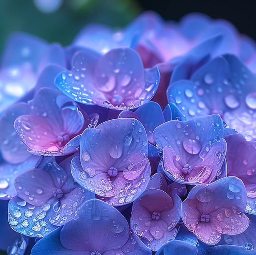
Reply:
M72 175L109 204L131 203L145 190L150 177L147 153L147 136L139 121L106 121L83 132L80 159L72 160Z

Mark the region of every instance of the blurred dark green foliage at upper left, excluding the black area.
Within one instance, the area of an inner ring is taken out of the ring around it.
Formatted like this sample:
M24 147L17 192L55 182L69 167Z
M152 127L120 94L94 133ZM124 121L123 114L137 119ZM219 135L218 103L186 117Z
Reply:
M0 0L0 54L8 37L16 31L67 46L88 23L121 28L141 12L136 0L62 0L61 6L51 13L42 12L35 2ZM7 253L0 251L0 255L4 254Z

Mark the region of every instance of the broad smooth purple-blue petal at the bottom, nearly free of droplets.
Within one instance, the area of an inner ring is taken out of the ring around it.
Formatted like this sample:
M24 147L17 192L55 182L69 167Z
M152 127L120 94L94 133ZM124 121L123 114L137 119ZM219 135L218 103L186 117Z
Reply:
M98 251L102 254L123 247L129 234L126 219L118 210L92 199L84 204L83 212L76 221L64 225L60 241L63 247L70 250Z

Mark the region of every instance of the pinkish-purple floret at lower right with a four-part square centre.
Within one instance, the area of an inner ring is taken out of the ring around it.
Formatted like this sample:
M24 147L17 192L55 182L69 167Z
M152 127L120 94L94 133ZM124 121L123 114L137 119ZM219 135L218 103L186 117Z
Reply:
M236 177L226 177L194 187L182 203L181 216L199 240L215 245L222 234L237 235L248 228L245 208L244 184Z

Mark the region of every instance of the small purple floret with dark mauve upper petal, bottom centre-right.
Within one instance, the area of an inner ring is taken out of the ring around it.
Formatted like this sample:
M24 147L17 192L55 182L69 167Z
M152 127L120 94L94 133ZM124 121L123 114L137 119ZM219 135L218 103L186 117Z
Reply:
M157 251L176 235L181 200L159 189L147 189L133 203L131 227L147 247Z

